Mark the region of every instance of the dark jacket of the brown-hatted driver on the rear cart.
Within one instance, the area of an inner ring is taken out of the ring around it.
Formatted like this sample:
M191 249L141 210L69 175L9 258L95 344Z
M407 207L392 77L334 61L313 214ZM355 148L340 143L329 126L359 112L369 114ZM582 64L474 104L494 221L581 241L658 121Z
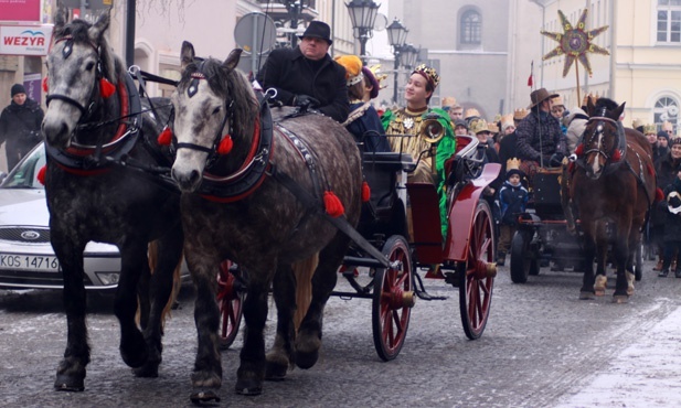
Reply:
M567 153L565 148L565 135L561 131L558 120L544 111L532 110L525 116L515 129L518 133L518 157L521 160L540 161L544 157L544 162L553 153Z

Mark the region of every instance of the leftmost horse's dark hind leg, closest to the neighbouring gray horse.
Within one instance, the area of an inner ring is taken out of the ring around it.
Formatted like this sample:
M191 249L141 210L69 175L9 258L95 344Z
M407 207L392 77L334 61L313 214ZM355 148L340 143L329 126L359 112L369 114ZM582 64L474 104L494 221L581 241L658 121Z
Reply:
M173 272L181 261L183 236L181 228L175 228L157 240L157 265L151 273L146 298L149 300L147 324L142 325L149 356L147 362L134 373L138 377L158 377L158 367L162 361L163 344L161 337L163 309L173 288ZM142 280L142 279L140 279Z

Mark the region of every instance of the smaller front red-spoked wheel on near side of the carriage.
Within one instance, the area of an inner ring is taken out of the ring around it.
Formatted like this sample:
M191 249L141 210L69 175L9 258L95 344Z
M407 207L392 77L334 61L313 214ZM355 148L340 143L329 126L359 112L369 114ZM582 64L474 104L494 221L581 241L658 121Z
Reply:
M404 344L414 305L414 277L409 245L400 235L383 246L387 259L400 261L397 268L379 268L374 276L372 329L379 356L387 362L397 356Z

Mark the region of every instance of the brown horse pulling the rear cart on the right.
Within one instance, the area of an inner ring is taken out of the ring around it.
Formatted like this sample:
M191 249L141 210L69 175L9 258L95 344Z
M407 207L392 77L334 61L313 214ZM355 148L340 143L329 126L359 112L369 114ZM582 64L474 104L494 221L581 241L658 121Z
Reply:
M634 292L634 255L657 189L652 151L643 136L619 121L625 104L588 101L589 119L575 154L570 193L584 233L584 281L579 299L605 292L606 226L614 228L617 283L614 301ZM570 217L567 217L570 218ZM594 276L594 257L597 275Z

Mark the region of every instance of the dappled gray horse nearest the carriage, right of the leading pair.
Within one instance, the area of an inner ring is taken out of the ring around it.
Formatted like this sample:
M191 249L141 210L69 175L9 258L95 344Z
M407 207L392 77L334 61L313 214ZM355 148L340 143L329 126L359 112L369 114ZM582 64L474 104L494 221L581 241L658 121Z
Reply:
M198 292L192 400L205 401L217 398L222 383L215 270L224 259L237 262L248 277L236 391L260 394L266 376L281 378L292 364L315 365L323 308L349 245L322 212L345 217L354 227L362 173L352 136L332 119L277 109L274 122L267 120L266 104L235 69L241 50L224 63L194 56L184 42L182 79L171 98L177 138L172 178L182 191L182 224L191 237L184 251ZM291 265L317 253L311 303L296 333ZM278 321L266 356L263 331L270 286Z

